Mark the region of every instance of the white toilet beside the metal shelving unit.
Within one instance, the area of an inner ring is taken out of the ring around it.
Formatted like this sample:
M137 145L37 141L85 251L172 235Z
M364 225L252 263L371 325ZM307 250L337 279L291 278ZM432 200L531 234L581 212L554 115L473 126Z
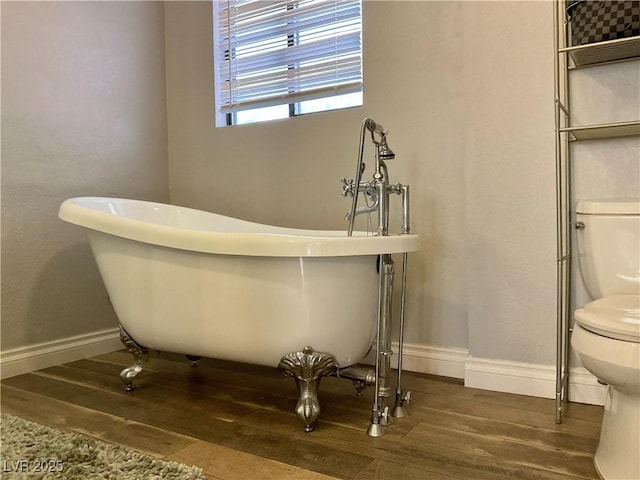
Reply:
M580 274L593 301L574 313L571 346L608 385L594 456L606 480L640 479L640 201L580 202Z

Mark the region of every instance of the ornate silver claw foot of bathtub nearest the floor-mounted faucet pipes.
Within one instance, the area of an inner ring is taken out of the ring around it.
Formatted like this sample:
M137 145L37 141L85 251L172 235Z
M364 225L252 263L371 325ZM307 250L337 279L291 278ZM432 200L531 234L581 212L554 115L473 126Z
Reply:
M285 375L295 379L300 392L295 411L304 424L305 432L311 432L320 416L320 380L336 370L335 358L328 353L316 352L311 347L305 347L301 352L289 353L282 357L278 368Z

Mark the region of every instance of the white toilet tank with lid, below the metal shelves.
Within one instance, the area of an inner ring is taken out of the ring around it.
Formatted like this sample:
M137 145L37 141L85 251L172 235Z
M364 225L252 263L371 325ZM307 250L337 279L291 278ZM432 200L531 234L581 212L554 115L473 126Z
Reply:
M640 201L579 202L578 262L592 298L640 295Z

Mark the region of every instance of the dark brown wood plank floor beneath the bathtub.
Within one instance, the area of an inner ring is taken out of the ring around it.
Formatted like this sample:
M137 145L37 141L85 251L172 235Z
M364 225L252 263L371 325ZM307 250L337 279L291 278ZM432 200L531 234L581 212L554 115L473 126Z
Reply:
M305 433L295 383L276 369L154 355L126 393L126 352L2 382L2 411L198 465L210 479L542 480L598 476L592 464L602 407L465 388L406 374L408 415L370 438L372 389L325 378L321 419Z

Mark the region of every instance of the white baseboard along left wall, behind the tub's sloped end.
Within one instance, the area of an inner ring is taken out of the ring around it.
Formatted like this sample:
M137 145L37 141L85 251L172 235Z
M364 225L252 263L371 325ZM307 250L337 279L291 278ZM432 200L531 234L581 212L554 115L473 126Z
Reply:
M9 378L122 348L117 328L0 352L0 378Z

